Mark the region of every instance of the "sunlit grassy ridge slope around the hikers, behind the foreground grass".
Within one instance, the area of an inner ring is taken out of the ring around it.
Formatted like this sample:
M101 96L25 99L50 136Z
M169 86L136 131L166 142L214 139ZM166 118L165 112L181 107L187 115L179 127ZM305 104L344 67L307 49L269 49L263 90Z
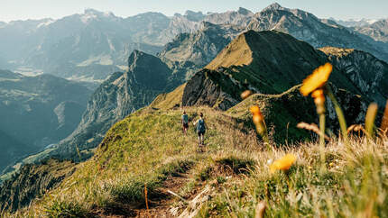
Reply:
M79 170L59 188L36 201L28 213L59 215L53 208L65 203L73 207L80 205L88 214L105 213L118 206L142 208L145 183L149 197L158 199L157 189L169 174L201 168L213 161L213 154L222 153L228 145L233 144L236 149L257 146L255 133L246 133L244 123L236 118L209 108L188 108L190 117L196 117L199 112L206 114L208 121L205 141L208 152L197 152L197 138L192 128L188 136L182 135L180 110L143 109L116 123L95 156L81 163ZM246 141L246 136L250 141Z

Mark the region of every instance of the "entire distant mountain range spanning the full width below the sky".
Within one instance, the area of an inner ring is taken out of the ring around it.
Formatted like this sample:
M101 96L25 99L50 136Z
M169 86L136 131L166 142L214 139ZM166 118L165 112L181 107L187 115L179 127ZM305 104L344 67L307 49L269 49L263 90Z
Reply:
M187 11L172 17L145 13L121 18L87 9L83 14L59 20L3 23L0 25L0 41L3 42L0 44L0 57L3 57L0 68L101 83L111 73L125 70L125 59L133 50L155 55L168 42L187 41L184 35L177 39L176 35L195 33L203 29L203 22L234 25L235 29L241 30L239 33L277 30L317 48L336 46L365 50L388 60L386 41L382 36L386 23L371 27L375 32L345 28L331 20L273 4L256 14L239 8L226 13ZM358 32L364 33L361 36ZM375 40L381 43L376 44ZM214 53L214 48L209 50Z

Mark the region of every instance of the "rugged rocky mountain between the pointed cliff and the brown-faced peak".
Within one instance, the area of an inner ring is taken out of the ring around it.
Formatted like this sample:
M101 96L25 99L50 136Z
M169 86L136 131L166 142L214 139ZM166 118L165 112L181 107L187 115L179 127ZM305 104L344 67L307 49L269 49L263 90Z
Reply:
M244 28L233 24L202 22L197 32L178 34L158 53L173 70L171 86L179 86L205 67L243 31Z

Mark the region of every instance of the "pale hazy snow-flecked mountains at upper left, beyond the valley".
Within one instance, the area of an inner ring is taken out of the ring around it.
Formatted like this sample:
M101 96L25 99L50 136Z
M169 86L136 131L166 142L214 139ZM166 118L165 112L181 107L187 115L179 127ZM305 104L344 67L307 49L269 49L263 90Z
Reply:
M188 11L172 18L160 13L121 18L87 9L84 14L59 20L5 23L0 27L0 57L5 57L6 67L21 72L43 71L67 78L105 79L125 68L125 59L133 50L156 54L177 34L199 30L205 17ZM235 23L234 20L241 17L238 12L232 14L229 22ZM217 19L209 17L207 20Z

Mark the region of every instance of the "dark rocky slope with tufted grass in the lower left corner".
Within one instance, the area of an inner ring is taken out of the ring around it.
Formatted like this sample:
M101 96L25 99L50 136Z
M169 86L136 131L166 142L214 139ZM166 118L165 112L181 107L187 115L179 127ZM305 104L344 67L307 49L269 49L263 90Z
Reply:
M55 188L76 170L69 161L50 159L42 165L25 165L0 186L0 210L14 212L28 206L37 196Z

